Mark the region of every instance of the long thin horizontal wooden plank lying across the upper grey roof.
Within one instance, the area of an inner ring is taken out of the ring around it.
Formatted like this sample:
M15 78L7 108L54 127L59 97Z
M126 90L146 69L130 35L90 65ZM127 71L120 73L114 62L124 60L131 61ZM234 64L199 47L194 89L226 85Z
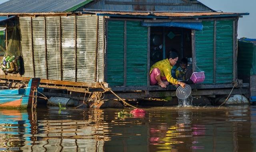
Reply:
M190 6L191 3L159 3L159 2L114 2L105 1L105 4L117 4L117 5L167 5L167 6Z

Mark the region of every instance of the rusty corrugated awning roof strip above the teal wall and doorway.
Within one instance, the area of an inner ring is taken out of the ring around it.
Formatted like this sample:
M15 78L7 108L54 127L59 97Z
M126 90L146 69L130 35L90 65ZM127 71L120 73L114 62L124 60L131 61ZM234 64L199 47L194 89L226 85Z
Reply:
M85 11L86 13L86 11ZM168 17L212 17L212 16L240 16L249 15L249 13L229 13L229 12L91 12L96 14L111 15L130 15L130 16L168 16Z

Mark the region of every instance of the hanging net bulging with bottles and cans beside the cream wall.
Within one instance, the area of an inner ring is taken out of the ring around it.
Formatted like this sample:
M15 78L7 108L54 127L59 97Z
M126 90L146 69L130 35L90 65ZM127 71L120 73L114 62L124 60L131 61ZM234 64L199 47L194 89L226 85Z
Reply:
M20 42L18 24L8 30L10 37L6 47L4 58L0 64L1 69L7 73L17 74L20 71ZM4 48L2 48L3 50Z

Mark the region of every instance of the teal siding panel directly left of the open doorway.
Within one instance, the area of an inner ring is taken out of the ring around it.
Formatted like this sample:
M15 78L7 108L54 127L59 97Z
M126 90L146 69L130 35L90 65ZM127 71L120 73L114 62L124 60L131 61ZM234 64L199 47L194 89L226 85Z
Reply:
M126 23L126 85L147 85L148 28L141 22Z

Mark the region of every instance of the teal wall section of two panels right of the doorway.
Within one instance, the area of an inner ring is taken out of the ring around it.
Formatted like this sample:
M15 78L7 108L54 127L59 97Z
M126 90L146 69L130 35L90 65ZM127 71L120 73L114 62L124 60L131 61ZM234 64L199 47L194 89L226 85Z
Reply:
M214 21L196 31L196 65L205 72L204 84L214 82ZM197 68L196 72L200 70ZM233 20L216 21L216 83L233 82Z

